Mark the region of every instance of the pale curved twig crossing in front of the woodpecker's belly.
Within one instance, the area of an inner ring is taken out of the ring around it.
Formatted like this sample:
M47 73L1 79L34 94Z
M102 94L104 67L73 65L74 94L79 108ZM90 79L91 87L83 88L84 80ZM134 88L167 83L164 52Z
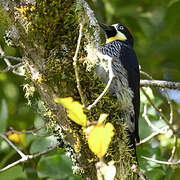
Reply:
M110 87L110 85L112 83L112 80L115 77L114 73L113 73L113 70L112 70L112 58L108 59L108 70L109 70L109 81L108 81L105 89L103 90L103 92L99 95L99 97L92 104L90 104L87 107L88 110L91 110L91 108L94 107L101 100L101 98L106 94L107 90L109 89L109 87Z

